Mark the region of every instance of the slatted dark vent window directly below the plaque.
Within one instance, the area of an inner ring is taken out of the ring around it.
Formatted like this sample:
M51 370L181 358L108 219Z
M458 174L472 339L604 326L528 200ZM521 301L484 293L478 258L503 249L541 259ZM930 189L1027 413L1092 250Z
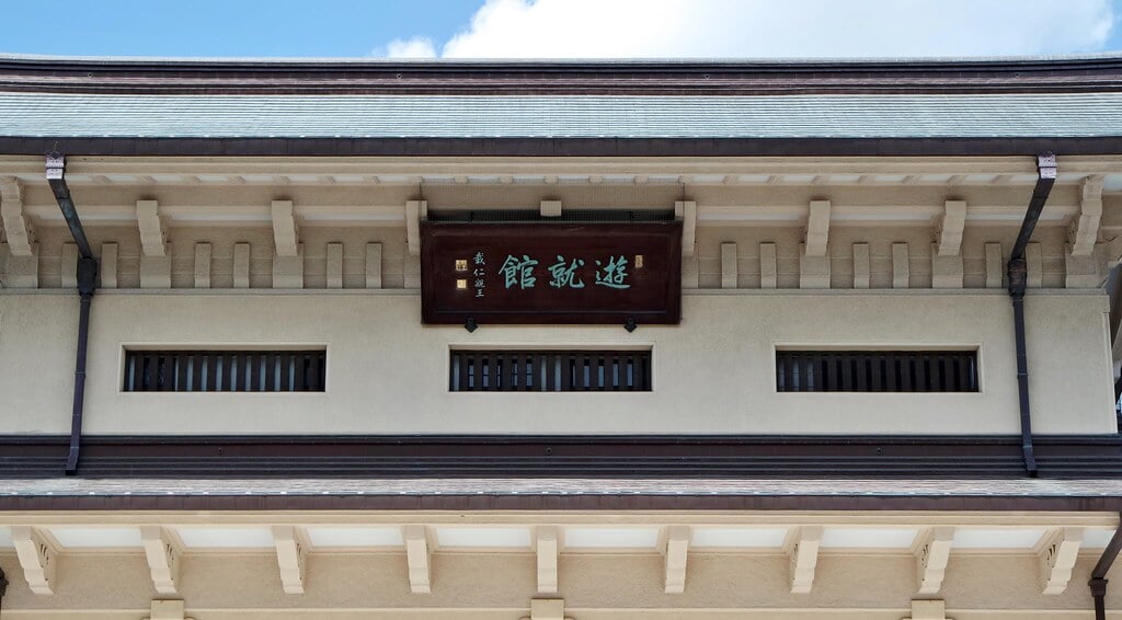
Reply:
M651 391L650 351L452 351L450 391Z

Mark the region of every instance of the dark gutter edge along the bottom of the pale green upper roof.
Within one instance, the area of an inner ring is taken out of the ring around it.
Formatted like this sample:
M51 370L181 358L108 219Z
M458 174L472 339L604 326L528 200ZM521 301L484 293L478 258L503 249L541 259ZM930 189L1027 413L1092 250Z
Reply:
M70 157L1021 157L1118 155L1095 138L47 138L2 137L0 154Z

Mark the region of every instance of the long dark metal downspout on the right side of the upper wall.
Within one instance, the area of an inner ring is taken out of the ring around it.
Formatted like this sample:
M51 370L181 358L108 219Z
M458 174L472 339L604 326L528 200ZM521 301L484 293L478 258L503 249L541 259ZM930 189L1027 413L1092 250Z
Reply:
M1032 416L1029 414L1029 360L1024 352L1024 289L1028 286L1028 265L1024 260L1024 248L1037 228L1040 212L1048 202L1048 194L1056 183L1056 156L1045 152L1037 156L1037 185L1032 189L1029 209L1021 222L1021 231L1013 243L1013 252L1009 256L1009 296L1013 302L1013 339L1017 341L1017 387L1021 404L1021 453L1024 456L1024 471L1032 478L1037 476L1037 457L1032 450Z

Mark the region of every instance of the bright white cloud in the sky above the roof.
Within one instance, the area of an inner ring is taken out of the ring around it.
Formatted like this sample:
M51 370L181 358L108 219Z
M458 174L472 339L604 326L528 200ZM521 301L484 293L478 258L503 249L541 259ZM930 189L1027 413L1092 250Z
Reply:
M1093 52L1111 0L487 0L459 58L914 57ZM427 52L427 39L394 41Z

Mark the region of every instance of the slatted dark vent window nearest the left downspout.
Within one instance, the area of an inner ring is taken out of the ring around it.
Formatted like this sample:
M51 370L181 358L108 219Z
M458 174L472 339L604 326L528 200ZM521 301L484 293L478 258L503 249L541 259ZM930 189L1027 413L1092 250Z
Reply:
M323 391L327 352L126 351L125 391Z

